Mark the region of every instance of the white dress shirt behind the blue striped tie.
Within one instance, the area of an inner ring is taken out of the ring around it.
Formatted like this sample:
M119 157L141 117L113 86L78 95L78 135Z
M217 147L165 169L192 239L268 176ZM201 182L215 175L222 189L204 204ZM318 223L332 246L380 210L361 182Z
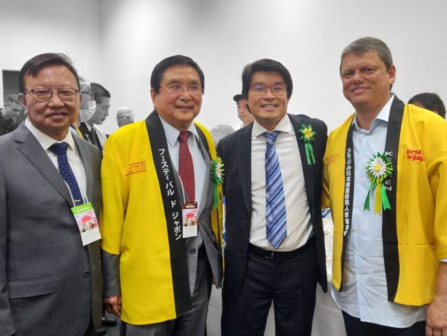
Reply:
M292 251L303 246L312 235L312 226L307 204L303 166L296 142L296 135L285 115L274 128L279 131L274 142L285 195L287 237L278 251ZM260 248L275 250L266 237L266 137L268 132L257 121L251 132L251 229L250 243Z

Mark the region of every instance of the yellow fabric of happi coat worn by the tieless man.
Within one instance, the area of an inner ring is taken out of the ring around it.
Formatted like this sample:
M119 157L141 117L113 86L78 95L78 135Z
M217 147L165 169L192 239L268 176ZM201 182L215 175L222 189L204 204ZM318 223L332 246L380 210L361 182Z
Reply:
M394 267L398 272L387 274L387 286L394 283L392 288L396 290L389 291L388 299L420 306L433 300L439 260L447 258L447 121L413 105L404 108L399 102L403 117L400 137L396 138L396 204L391 210L395 212L396 226L383 224L387 230L395 230L397 237L391 250L396 249ZM324 155L322 206L330 205L333 216L332 283L338 290L342 290L344 265L346 136L352 121L353 115L331 132ZM355 169L365 171L365 167ZM386 261L387 254L384 256Z

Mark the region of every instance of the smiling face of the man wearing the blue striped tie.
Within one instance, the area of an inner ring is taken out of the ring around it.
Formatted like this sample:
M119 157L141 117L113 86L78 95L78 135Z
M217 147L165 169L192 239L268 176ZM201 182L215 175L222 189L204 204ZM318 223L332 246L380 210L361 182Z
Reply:
M287 91L272 93L270 89L276 84L285 84L283 76L277 72L258 71L251 77L251 85L260 84L267 87L267 92L256 93L248 90L248 106L256 121L266 130L273 130L287 112Z

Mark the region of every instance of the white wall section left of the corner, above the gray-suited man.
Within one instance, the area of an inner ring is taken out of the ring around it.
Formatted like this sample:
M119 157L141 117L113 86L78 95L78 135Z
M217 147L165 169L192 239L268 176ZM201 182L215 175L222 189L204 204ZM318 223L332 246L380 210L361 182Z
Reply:
M62 52L79 74L101 77L100 32L98 0L0 0L0 70L20 70L39 53Z

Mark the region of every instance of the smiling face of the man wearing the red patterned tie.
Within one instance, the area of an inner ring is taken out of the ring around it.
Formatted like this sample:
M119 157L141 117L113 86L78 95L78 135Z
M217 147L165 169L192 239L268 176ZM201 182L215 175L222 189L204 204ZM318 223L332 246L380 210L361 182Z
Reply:
M170 95L165 88L172 84L183 86L183 91L179 95ZM153 106L159 116L177 130L188 130L201 109L202 93L191 95L185 89L191 85L201 85L196 69L190 65L175 65L164 71L158 93L151 88Z

